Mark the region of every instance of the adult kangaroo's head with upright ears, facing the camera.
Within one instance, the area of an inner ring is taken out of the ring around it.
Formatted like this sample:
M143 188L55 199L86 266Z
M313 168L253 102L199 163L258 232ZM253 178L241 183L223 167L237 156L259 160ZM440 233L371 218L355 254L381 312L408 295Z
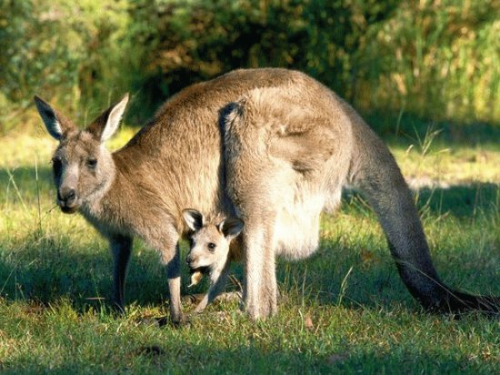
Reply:
M124 114L128 95L110 106L84 130L35 96L35 105L48 133L59 141L52 157L57 204L65 213L101 197L115 177L115 164L105 148Z

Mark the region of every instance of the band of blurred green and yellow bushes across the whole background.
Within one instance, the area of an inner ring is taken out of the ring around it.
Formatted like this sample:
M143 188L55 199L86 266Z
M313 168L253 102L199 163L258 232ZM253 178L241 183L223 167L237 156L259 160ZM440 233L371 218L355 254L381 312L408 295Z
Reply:
M364 112L500 121L494 1L0 0L0 128L37 93L83 122L125 91L142 123L237 67L315 76Z

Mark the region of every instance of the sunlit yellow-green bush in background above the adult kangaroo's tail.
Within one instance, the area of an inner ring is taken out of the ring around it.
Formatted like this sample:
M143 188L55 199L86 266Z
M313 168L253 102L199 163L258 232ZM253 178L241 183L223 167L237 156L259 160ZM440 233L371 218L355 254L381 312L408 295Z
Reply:
M361 100L376 108L404 107L421 117L498 124L495 1L428 3L401 3L385 23L367 30L358 51L365 67Z

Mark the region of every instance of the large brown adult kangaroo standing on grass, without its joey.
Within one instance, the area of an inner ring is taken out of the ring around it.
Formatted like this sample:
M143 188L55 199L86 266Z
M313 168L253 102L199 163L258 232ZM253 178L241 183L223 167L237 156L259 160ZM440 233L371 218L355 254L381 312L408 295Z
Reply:
M311 254L320 212L335 208L349 185L375 209L401 278L426 309L498 310L499 299L454 291L438 278L394 157L351 106L313 78L251 69L189 86L111 154L104 141L127 99L78 130L35 96L59 141L57 202L109 239L119 307L138 236L166 265L171 319L182 318L178 240L187 230L183 208L196 208L208 217L235 210L244 220L245 309L253 319L275 313L275 256Z

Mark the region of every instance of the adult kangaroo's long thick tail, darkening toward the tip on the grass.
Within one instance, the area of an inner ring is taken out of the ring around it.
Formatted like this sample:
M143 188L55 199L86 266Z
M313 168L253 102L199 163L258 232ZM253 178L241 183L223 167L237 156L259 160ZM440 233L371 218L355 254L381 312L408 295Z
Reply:
M375 209L406 288L428 310L498 314L500 298L455 291L439 279L412 193L394 157L354 110L347 111L354 136L349 182Z

